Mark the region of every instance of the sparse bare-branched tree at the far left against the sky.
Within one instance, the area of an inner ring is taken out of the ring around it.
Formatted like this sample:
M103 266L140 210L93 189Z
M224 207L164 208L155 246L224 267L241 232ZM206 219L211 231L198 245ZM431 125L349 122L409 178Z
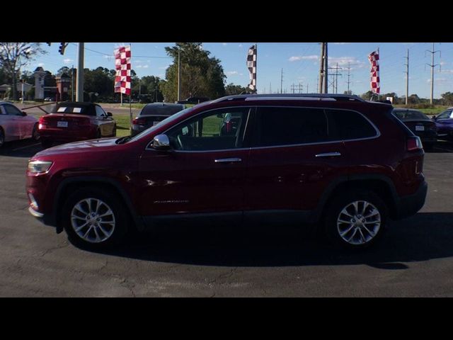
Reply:
M39 42L0 42L0 66L11 78L13 99L17 99L16 84L21 69L36 55L44 53Z

